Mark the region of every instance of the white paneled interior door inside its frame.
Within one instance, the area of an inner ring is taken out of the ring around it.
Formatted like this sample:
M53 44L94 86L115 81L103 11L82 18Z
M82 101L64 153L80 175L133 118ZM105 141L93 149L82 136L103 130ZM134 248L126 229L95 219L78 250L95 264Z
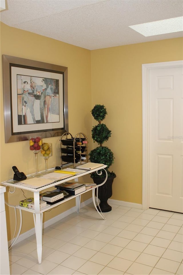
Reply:
M183 67L148 79L149 207L183 213Z

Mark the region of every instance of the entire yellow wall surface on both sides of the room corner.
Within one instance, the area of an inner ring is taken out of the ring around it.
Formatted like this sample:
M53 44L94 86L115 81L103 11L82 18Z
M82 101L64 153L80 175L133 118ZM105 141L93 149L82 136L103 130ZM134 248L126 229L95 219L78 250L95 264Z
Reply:
M3 118L2 55L17 56L68 67L69 132L86 134L89 151L91 129L96 125L90 110L95 104L104 104L108 115L103 121L112 136L108 146L115 156L110 171L117 175L111 199L142 203L142 64L182 60L182 38L125 45L89 51L41 35L22 31L1 23L1 182L13 177L11 167L16 165L25 174L35 171L35 159L28 141L5 144ZM59 137L49 138L53 143L53 157L48 166L59 165ZM44 161L39 159L39 170ZM26 197L32 193L25 192ZM16 204L23 199L21 190L7 193L6 200ZM83 200L89 198L83 197ZM44 221L72 207L65 203L44 214ZM14 233L14 212L6 207L8 238ZM21 233L33 228L32 215L23 211ZM11 223L10 223L11 220ZM10 229L11 226L11 229Z

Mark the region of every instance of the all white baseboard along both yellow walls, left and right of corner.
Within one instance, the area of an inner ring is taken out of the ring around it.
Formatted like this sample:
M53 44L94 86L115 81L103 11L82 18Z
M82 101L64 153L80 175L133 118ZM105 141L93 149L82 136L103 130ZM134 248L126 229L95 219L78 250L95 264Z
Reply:
M85 207L86 205L88 205L89 203L92 203L92 198L86 200L86 201L83 201L81 203L81 207ZM132 203L132 202L127 202L127 201L118 201L116 199L108 199L108 203L110 205L111 204L115 204L115 205L120 205L120 206L126 206L126 207L130 207L130 208L138 208L138 209L142 209L142 204L138 204L138 203ZM66 210L65 212L53 217L52 219L49 219L48 221L45 221L43 223L43 228L46 228L50 225L52 225L53 223L57 222L57 221L60 221L61 219L67 217L68 215L72 214L75 212L75 206ZM35 228L32 228L28 231L26 231L25 233L21 234L17 241L15 242L15 244L27 239L28 237L32 236L35 234ZM15 238L14 238L15 239ZM13 239L13 240L14 240ZM11 244L11 240L8 242L8 246L10 246Z

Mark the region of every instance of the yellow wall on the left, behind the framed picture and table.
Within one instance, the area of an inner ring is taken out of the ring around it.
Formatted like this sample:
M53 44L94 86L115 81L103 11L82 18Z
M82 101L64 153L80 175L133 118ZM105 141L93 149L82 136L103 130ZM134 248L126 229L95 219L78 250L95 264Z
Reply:
M1 23L1 182L13 177L13 170L11 168L13 165L16 165L25 174L35 172L35 158L34 154L29 150L28 141L5 143L2 81L3 54L68 67L69 132L73 136L78 132L83 132L89 139L89 146L92 146L92 139L90 137L92 118L89 113L92 109L90 51ZM45 141L53 144L53 156L48 160L48 168L60 165L59 138L45 139ZM38 165L39 171L45 169L44 159L39 156ZM25 196L31 197L32 193L25 191ZM89 197L91 197L91 194L83 197L83 199L88 199ZM17 189L15 193L8 194L8 197L6 193L5 199L12 205L18 204L21 199L24 199L23 192ZM64 205L44 213L44 221L55 215L59 215L62 211L73 207L73 205L75 205L75 202L71 200L70 203L64 203ZM23 212L21 233L34 227L33 215L25 211ZM14 209L6 207L6 213L8 239L11 239L15 226Z

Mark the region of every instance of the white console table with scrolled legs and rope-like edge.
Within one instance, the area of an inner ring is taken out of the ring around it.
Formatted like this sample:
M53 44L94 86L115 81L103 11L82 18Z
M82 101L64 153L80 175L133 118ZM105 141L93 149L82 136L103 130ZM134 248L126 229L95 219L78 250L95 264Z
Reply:
M99 205L99 202L98 202L98 187L103 185L106 180L107 180L107 172L105 170L107 166L106 165L103 165L99 168L96 168L96 169L92 169L92 170L86 170L85 172L82 172L78 175L71 175L71 177L68 177L66 179L63 179L63 180L58 180L56 183L51 183L51 184L48 184L48 185L44 185L42 187L39 187L39 188L30 188L30 187L27 187L27 186L23 186L21 185L19 182L17 181L14 181L13 179L10 179L8 181L4 181L2 182L1 184L4 185L4 186L10 186L10 187L15 187L15 188L19 188L19 189L25 189L25 190L29 190L31 192L34 193L34 206L35 206L35 209L29 209L29 208L26 208L26 207L21 207L19 205L16 206L17 209L19 209L20 211L21 210L24 210L24 211L28 211L28 212L31 212L33 213L33 218L34 218L34 225L35 225L35 234L36 234L36 242L37 242L37 256L38 256L38 262L39 264L41 264L41 258L42 258L42 222L43 222L43 212L47 211L47 210L50 210L62 203L65 203L66 201L69 201L70 199L73 199L75 198L75 201L76 201L76 210L77 210L77 213L79 213L79 209L80 209L80 203L81 203L81 195L92 190L92 198L93 198L93 203L94 203L94 206L96 208L96 210L98 211L99 215L103 218L103 219L106 219L103 215L102 212L100 212L97 208L97 205L96 205L96 200L97 200L97 204ZM79 193L77 195L74 195L74 196L70 196L66 199L64 199L63 201L60 201L58 203L54 203L53 205L47 205L46 207L40 209L40 205L39 205L39 192L40 191L43 191L45 189L48 189L50 187L54 187L55 185L57 184L60 184L60 183L63 183L63 182L67 182L67 181L71 181L71 180L75 180L75 181L78 181L78 178L79 177L82 177L84 175L87 175L87 174L90 174L92 172L95 172L95 171L98 171L98 170L102 170L104 169L105 173L106 173L106 178L104 180L103 183L101 183L100 185L94 185L94 187L90 188L90 189L87 189L86 191L82 192L82 193ZM49 172L53 172L55 169L49 169ZM29 175L27 176L27 179L28 178L31 178L33 176L39 176L39 173L38 174L32 174L32 175ZM95 197L95 189L96 189L96 197Z

